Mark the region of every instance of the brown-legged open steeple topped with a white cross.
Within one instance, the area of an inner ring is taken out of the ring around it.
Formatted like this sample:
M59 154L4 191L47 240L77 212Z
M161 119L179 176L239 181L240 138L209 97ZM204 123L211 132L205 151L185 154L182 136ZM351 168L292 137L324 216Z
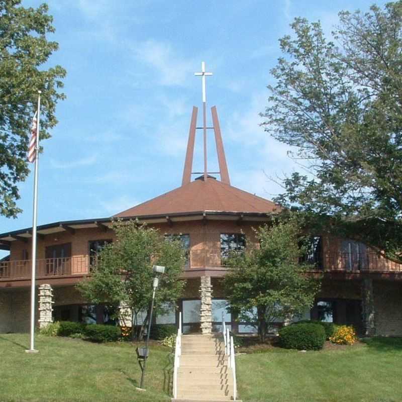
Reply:
M221 128L219 126L217 108L214 106L211 108L213 127L207 127L207 91L206 91L206 77L212 75L212 72L205 71L205 62L201 63L201 72L196 72L194 75L201 76L202 79L202 94L203 94L203 126L197 127L197 114L198 108L192 107L190 130L188 134L187 151L185 155L183 180L181 185L187 184L191 181L191 174L204 175L204 180L207 180L209 173L219 173L221 175L221 181L230 185L228 165L226 163L225 150L223 147ZM204 171L192 172L192 159L194 155L194 143L195 143L195 131L203 130L204 139ZM215 142L218 153L219 172L208 172L208 158L207 158L207 130L214 130Z

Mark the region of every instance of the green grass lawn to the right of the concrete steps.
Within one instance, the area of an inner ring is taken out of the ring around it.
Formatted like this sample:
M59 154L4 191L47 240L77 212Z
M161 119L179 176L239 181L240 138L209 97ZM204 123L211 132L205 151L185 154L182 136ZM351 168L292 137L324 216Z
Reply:
M400 402L402 338L319 352L272 348L236 357L245 402Z

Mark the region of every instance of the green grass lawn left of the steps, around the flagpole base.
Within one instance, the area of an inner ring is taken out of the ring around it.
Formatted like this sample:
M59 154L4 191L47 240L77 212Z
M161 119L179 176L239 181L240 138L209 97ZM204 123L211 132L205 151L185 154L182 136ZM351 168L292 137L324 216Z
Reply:
M27 334L0 335L0 401L148 402L169 400L169 349L152 346L145 388L135 348L79 339L36 337L37 354L25 353Z

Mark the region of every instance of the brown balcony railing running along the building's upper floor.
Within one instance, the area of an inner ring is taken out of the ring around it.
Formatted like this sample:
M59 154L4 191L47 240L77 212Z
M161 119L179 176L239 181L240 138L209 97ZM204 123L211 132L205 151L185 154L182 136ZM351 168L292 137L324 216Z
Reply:
M93 258L93 257L92 257ZM227 268L225 258L220 250L190 250L183 269L196 268ZM93 262L93 261L92 261ZM37 278L84 275L89 273L89 256L74 256L68 258L43 258L36 264ZM397 264L377 253L365 254L327 253L322 261L318 261L315 271L346 271L346 272L402 272L402 264ZM31 260L13 260L0 262L0 280L28 279L31 277Z

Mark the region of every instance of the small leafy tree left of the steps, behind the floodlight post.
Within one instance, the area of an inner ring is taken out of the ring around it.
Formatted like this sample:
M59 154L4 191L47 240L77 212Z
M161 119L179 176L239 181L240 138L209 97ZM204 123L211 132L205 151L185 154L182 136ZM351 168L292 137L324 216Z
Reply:
M113 230L116 241L100 251L91 265L91 276L77 287L91 303L114 307L122 322L127 313L120 307L129 309L134 318L133 336L138 315L147 312L136 334L142 338L152 299L152 266L166 267L159 279L154 304L154 311L163 314L166 304L175 303L185 285L184 280L179 280L184 250L180 241L164 239L157 229L137 221L117 221Z

